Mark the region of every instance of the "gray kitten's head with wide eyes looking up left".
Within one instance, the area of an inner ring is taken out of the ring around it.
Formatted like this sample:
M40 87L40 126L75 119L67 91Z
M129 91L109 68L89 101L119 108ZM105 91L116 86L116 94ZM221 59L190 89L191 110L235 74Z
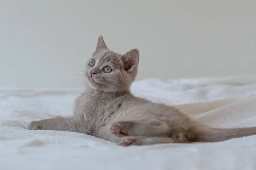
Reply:
M110 51L99 36L93 56L85 64L85 76L90 88L99 91L128 90L137 76L139 51L132 49L121 55Z

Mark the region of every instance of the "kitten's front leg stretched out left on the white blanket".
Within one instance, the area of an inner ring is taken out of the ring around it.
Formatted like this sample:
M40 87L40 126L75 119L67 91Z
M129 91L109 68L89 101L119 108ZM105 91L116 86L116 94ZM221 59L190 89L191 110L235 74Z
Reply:
M59 130L90 134L88 128L79 119L75 117L56 116L52 119L43 119L29 123L29 130Z

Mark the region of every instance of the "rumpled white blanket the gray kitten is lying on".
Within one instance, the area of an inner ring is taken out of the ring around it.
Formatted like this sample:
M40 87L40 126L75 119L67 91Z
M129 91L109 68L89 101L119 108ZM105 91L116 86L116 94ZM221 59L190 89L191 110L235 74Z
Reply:
M214 127L256 126L256 77L146 79L133 94ZM81 133L26 130L71 115L79 90L0 90L0 170L255 170L256 135L216 143L120 147Z

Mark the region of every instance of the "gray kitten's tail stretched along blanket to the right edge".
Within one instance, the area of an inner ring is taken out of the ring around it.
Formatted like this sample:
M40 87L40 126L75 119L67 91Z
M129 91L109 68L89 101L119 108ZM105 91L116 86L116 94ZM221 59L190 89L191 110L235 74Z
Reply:
M244 128L213 128L201 127L201 133L197 134L198 142L221 142L228 139L239 138L256 134L256 127Z

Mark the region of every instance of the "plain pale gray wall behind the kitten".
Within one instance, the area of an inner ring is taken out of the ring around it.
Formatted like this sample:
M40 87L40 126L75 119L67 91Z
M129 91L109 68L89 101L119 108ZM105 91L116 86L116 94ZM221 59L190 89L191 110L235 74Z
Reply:
M137 80L256 72L256 0L0 0L0 87L81 87L99 34Z

